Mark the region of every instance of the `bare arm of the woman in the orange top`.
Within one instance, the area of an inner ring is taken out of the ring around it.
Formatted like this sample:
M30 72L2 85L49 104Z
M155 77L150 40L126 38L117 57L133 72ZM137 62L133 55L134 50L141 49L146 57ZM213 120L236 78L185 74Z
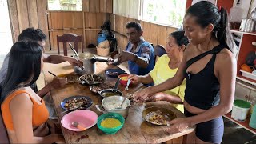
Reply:
M10 113L13 119L17 143L53 143L58 142L58 135L34 137L32 126L32 106L28 94L18 94L10 102Z

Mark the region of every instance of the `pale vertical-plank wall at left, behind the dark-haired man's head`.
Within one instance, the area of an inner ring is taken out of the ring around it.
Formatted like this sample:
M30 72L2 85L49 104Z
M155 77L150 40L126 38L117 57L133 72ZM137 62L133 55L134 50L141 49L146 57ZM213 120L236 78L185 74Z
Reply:
M47 26L47 0L8 0L10 23L14 42L18 35L28 27L41 29L49 38ZM49 40L46 40L49 49Z

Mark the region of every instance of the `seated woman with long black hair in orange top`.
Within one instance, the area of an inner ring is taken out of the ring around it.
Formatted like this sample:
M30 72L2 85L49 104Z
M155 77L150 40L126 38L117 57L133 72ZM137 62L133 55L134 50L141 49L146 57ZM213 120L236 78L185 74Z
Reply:
M2 118L11 143L65 142L62 135L50 134L45 102L30 88L43 66L38 42L16 42L11 47L8 71L0 86ZM33 130L42 128L34 133Z

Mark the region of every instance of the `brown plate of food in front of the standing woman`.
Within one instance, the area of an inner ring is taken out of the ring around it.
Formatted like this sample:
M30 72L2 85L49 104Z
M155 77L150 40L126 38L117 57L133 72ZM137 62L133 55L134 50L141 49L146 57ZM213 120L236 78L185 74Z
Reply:
M162 107L149 107L143 110L142 117L154 125L167 125L167 121L177 118L173 111Z

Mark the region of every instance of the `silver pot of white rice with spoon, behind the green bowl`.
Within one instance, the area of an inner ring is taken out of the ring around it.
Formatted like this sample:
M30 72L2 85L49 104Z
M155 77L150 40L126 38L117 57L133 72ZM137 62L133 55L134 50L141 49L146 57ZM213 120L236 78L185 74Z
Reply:
M116 102L116 108L121 105L124 97L122 96L111 96L102 99L102 106L95 105L98 111L101 111L103 113L118 113L123 116L123 118L127 118L129 114L129 108L130 108L130 100L126 98L125 103L123 104L121 109L110 109L110 106L108 106L111 103ZM111 106L114 106L113 104Z

